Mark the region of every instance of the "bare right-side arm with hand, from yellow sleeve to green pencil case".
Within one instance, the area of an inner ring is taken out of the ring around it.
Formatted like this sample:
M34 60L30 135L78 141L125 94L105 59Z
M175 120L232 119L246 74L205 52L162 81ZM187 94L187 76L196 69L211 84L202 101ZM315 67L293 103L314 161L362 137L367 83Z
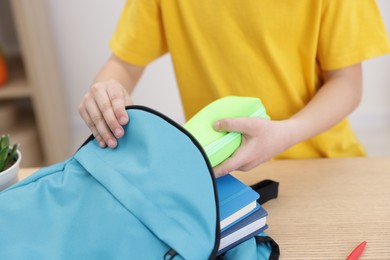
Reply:
M233 156L214 168L215 176L253 169L351 113L362 95L360 64L324 72L324 78L325 83L312 100L289 119L224 118L216 122L218 131L242 133L242 143Z

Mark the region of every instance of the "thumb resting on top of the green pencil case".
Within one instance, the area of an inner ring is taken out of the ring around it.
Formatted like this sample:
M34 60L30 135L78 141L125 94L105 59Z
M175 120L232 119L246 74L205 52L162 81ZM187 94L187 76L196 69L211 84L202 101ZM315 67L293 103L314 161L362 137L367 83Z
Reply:
M214 123L214 129L217 131L239 132L249 134L255 118L223 118Z

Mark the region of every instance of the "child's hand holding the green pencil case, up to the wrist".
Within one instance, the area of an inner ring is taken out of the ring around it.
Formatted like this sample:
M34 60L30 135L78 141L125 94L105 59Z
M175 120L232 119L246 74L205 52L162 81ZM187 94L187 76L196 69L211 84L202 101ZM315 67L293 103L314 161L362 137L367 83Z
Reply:
M214 125L217 131L240 132L242 143L230 158L214 168L215 177L234 170L251 170L289 148L292 143L288 124L288 120L260 118L225 118L217 121Z

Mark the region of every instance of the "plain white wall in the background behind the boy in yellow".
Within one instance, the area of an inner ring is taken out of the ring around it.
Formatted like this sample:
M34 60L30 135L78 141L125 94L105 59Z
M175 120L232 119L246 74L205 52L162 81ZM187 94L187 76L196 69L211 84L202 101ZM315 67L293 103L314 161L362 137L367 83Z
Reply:
M125 0L48 1L66 87L65 98L68 100L74 149L89 135L89 130L78 115L78 104L109 56L108 41L124 2ZM377 2L390 35L390 1ZM363 101L352 114L351 122L363 143L372 144L367 135L376 135L375 131L378 129L390 134L390 55L364 63L364 84ZM147 68L133 99L135 103L155 108L179 123L184 122L168 55ZM390 154L390 135L387 137Z

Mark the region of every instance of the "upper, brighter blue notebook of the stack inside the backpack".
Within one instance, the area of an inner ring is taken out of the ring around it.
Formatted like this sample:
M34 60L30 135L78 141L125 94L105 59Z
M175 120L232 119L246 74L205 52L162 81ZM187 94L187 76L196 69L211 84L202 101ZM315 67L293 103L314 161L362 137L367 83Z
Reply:
M256 209L259 194L230 174L217 178L216 182L220 228L225 230Z

